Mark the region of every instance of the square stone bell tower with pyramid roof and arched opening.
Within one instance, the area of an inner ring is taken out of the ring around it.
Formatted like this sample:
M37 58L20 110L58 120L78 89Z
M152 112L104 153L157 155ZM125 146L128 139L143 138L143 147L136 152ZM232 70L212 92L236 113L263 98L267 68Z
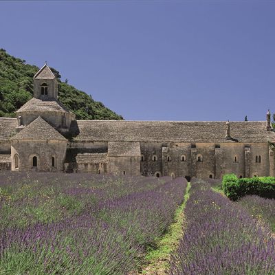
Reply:
M54 100L58 98L58 85L47 63L34 76L34 98Z

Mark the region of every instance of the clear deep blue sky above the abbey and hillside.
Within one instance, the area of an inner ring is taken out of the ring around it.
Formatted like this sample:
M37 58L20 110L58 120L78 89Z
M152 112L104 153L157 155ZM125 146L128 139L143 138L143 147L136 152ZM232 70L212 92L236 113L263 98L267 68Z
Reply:
M126 120L265 120L275 1L0 1L0 47Z

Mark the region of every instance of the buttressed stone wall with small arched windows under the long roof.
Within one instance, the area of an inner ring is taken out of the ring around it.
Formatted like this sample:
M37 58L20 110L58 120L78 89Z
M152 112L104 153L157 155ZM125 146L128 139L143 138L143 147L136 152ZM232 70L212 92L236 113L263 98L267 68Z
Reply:
M224 174L238 177L270 175L268 144L241 143L141 143L141 174L173 177L200 177L221 179ZM153 155L157 160L153 161ZM256 162L261 156L261 162ZM272 159L273 157L273 159Z

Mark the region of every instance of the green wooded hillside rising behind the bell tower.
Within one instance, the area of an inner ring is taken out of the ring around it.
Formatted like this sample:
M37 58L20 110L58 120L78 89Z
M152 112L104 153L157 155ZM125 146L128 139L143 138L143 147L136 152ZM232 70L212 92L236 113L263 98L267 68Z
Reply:
M61 81L59 72L51 68L58 78L58 100L76 114L78 120L122 120L101 102L95 101L84 91ZM39 67L25 64L20 58L10 56L0 49L0 117L14 117L33 95L33 76Z

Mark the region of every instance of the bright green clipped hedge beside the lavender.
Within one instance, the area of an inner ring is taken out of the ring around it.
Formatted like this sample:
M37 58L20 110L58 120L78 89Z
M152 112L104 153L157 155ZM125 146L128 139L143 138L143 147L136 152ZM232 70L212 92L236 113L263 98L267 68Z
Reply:
M238 179L234 174L224 175L223 192L232 201L236 201L245 195L259 195L275 199L275 177Z

